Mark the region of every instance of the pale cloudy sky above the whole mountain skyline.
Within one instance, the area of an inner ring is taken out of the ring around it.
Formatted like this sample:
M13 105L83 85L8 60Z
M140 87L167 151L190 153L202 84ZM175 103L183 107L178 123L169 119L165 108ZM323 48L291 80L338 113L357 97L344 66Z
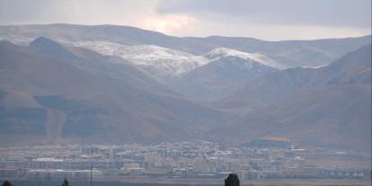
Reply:
M175 36L352 37L371 33L371 0L0 0L0 24L55 22Z

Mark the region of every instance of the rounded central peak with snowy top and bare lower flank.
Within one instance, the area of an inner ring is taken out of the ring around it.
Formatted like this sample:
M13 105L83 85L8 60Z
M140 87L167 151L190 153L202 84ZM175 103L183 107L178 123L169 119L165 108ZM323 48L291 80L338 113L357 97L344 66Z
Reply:
M190 98L214 101L243 89L261 75L278 70L267 66L272 61L270 58L258 54L217 54L213 50L206 56L212 60L208 65L174 78L171 88Z

